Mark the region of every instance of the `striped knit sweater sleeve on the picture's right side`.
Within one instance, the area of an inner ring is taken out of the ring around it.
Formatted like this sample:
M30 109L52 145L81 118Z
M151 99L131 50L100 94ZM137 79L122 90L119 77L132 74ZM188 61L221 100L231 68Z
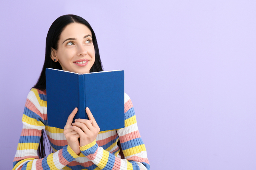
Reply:
M81 152L104 170L149 170L147 151L138 131L131 99L125 94L125 127L117 129L125 159L99 147L96 141L80 147Z

